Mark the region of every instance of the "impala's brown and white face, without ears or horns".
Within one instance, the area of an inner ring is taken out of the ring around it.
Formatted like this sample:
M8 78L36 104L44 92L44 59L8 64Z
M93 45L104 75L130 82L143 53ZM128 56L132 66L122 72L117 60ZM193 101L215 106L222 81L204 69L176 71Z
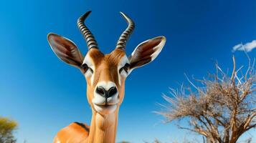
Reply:
M98 49L87 52L82 67L87 99L96 112L110 114L122 103L129 64L125 51L120 49L105 55Z

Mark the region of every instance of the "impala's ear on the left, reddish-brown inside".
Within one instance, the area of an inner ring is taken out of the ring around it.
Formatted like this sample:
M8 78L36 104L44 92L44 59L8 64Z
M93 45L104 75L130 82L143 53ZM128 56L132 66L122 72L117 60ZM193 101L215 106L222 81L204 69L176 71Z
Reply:
M70 39L53 33L48 34L47 39L52 51L54 51L59 59L81 69L84 57Z

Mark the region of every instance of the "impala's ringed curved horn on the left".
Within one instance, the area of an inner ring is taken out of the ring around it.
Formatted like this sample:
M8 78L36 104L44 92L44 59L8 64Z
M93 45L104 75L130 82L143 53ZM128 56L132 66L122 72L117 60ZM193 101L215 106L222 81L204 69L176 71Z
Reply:
M98 49L97 41L95 40L93 34L90 32L90 30L85 26L85 19L90 14L91 11L87 11L85 14L80 16L79 19L77 19L77 26L80 29L82 36L85 38L85 41L87 43L88 50L92 48Z

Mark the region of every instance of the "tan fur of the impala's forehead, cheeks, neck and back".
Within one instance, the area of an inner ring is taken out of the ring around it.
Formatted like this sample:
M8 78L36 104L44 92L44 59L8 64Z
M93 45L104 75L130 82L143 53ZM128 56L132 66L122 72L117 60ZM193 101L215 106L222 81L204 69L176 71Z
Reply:
M87 78L87 100L92 107L93 117L90 123L90 132L86 132L81 126L72 123L69 126L60 130L54 137L54 143L70 142L70 143L113 143L115 142L116 128L118 124L118 110L123 102L124 96L124 81L122 78L121 85L118 82L118 64L120 59L125 56L125 51L115 49L110 54L103 54L98 49L91 49L87 52L93 60L95 66L94 80L90 83L90 78ZM110 81L114 82L118 88L119 99L118 108L115 112L108 115L102 115L95 111L92 104L93 92L98 82Z

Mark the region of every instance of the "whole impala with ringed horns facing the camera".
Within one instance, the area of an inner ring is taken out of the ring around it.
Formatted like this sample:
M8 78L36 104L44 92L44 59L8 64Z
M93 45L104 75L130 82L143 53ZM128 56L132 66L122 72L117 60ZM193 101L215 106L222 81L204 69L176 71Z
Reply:
M77 26L87 43L87 54L83 56L77 46L63 36L50 33L49 45L59 59L80 69L87 82L87 101L92 109L90 127L74 122L61 129L54 143L113 143L118 125L118 111L125 93L125 79L133 69L156 59L166 42L164 36L143 41L126 56L125 45L134 29L133 21L121 12L128 23L120 35L116 47L110 54L103 54L93 34L85 26L87 11L77 20ZM136 91L136 89L135 89Z

